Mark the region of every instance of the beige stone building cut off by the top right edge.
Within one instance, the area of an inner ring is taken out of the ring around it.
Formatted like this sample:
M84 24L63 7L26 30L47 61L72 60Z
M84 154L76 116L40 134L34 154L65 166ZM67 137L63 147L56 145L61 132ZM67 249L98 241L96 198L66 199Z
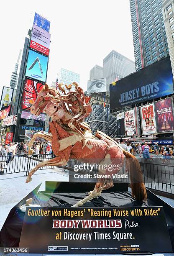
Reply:
M174 77L174 0L162 0L162 12L169 47L171 69Z

